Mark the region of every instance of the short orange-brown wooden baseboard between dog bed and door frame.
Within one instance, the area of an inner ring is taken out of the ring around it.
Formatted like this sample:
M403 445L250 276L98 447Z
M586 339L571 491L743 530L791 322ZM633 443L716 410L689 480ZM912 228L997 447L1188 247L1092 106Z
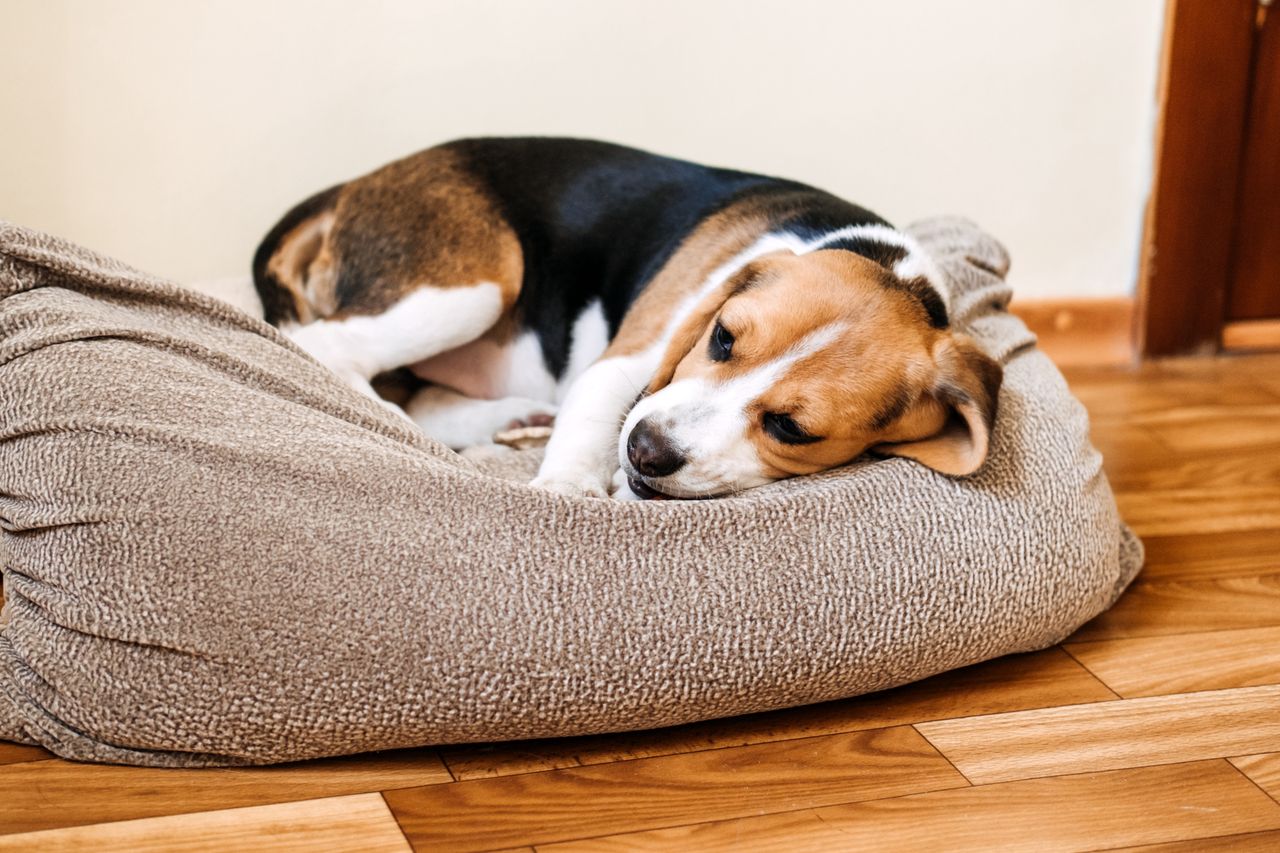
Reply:
M1133 364L1134 300L1015 301L1010 311L1039 338L1039 347L1062 368Z

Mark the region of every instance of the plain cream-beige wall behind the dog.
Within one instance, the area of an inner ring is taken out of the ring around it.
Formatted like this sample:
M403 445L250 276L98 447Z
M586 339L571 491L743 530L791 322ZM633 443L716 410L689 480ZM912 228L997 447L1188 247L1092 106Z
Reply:
M323 186L563 133L965 213L1024 296L1128 293L1161 6L0 0L0 216L220 277Z

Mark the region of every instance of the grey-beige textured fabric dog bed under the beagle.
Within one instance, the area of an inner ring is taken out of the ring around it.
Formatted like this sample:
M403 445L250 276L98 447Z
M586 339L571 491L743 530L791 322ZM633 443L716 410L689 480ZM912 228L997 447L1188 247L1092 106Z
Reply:
M0 738L159 766L617 731L1066 637L1142 562L998 243L913 228L1005 362L989 461L566 498L214 298L0 227Z

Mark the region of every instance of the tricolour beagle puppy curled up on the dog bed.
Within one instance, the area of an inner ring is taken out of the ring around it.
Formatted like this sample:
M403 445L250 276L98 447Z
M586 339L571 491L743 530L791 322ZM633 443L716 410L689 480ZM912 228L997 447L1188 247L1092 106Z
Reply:
M266 319L452 447L554 414L532 485L696 498L872 451L963 476L1000 365L908 234L794 181L605 142L460 140L307 199Z

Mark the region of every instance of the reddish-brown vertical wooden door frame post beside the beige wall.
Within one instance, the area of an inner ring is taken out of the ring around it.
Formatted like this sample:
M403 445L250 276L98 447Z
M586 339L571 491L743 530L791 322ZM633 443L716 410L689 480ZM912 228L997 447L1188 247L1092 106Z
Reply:
M1170 0L1139 273L1143 355L1219 347L1257 0Z

